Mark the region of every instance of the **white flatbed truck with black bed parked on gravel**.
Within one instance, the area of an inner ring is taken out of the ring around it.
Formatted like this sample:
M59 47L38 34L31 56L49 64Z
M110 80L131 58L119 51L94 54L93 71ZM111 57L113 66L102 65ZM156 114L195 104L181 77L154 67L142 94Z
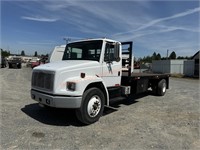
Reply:
M82 123L92 124L111 99L149 88L163 96L169 75L133 73L132 42L99 38L68 43L61 61L34 68L31 97L43 106L74 108Z

